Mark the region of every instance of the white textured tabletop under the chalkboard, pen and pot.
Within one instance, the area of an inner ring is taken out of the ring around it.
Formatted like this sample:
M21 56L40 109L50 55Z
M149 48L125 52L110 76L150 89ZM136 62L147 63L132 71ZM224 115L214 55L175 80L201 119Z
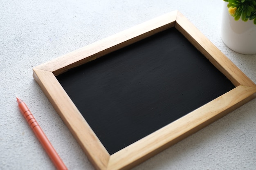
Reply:
M179 10L256 83L256 55L220 38L222 0L1 0L0 170L54 170L18 110L27 103L70 170L93 170L32 68L170 11ZM134 170L256 169L256 99L164 150Z

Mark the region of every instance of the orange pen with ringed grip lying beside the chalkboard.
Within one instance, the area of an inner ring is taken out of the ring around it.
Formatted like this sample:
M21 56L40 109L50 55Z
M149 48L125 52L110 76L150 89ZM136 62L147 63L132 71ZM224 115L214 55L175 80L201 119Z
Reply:
M27 105L24 102L22 102L22 100L19 99L17 96L16 96L16 98L17 98L17 102L18 102L18 105L19 105L22 115L27 120L27 123L32 128L33 132L35 133L35 135L38 138L38 140L40 141L40 143L43 145L43 148L45 149L45 151L51 158L51 160L54 163L54 165L56 166L56 168L58 170L67 170L67 167L65 166L65 164L63 163L61 158L58 156L58 153L56 152L56 150L50 143L49 139L46 137L43 130L40 128L39 124L37 123L37 121L34 118L34 116L32 115L32 113L30 112Z

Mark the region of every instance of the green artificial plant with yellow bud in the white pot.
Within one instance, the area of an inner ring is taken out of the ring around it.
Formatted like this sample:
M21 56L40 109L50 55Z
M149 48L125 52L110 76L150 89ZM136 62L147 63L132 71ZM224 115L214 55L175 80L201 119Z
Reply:
M256 24L256 0L224 0L227 4L230 15L237 21L253 20Z

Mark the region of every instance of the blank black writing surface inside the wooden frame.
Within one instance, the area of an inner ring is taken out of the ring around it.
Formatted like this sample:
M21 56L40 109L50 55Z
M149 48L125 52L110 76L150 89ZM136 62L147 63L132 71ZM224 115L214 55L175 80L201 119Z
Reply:
M235 88L175 28L56 78L110 155Z

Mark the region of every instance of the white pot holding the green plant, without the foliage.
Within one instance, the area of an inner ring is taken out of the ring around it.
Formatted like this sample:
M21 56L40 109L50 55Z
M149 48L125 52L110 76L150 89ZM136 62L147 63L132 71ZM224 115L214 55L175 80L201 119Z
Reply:
M222 12L222 41L233 51L242 54L256 54L256 25L252 20L247 22L234 20L224 2Z

